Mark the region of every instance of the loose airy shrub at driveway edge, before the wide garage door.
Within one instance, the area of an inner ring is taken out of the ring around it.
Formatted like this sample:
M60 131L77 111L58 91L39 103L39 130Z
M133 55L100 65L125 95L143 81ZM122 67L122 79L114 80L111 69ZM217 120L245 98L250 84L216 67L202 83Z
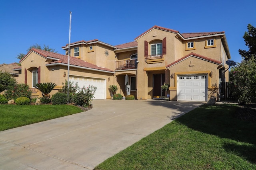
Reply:
M78 106L89 107L94 98L94 93L96 92L97 87L88 86L87 88L81 88L78 93L74 95L74 102Z

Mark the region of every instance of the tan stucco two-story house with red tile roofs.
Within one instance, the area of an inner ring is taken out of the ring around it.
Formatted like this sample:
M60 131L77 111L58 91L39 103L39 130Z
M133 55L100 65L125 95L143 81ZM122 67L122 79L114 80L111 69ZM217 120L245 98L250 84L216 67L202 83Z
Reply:
M20 82L32 89L38 82L54 82L62 87L68 76L66 55L32 49L21 61ZM138 99L208 101L224 95L228 81L230 53L224 32L179 33L154 26L133 42L109 45L98 39L70 44L69 80L79 86L97 87L95 99L110 98L108 87L118 86L117 93L133 94ZM170 84L167 92L161 85ZM34 94L40 93L34 89ZM35 96L36 96L35 95Z

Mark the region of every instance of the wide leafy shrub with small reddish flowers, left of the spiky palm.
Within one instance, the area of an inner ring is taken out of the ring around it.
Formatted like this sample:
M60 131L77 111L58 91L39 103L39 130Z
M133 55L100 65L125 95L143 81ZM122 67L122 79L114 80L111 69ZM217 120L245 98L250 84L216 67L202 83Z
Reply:
M4 96L7 100L16 100L19 97L30 98L31 93L32 92L29 90L29 86L27 84L21 83L7 88L7 90L4 92Z

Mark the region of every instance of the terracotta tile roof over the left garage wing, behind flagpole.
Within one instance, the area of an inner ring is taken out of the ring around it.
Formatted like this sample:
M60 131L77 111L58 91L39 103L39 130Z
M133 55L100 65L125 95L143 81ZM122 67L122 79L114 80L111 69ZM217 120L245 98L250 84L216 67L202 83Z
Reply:
M31 49L28 54L20 60L20 63L32 52L34 51L35 53L38 53L38 55L41 55L45 59L50 58L52 60L55 60L51 63L47 63L46 66L52 66L52 65L67 65L68 64L68 56L67 55L62 55L58 53L52 53L50 51L44 51L40 49ZM95 70L95 71L100 71L100 72L110 72L114 73L113 70L110 70L108 68L100 67L92 63L88 63L86 61L83 61L81 59L77 59L75 57L70 57L70 66L72 67L79 67L83 69L89 69L89 70Z

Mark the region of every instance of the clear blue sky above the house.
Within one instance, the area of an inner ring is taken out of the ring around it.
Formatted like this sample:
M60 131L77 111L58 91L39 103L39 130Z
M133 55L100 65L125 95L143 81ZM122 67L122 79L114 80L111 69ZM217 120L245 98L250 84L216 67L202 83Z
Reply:
M225 31L232 60L241 62L238 49L248 23L256 27L255 0L2 0L0 5L1 63L14 63L30 45L49 45L60 54L71 43L98 39L119 45L154 25L179 31Z

